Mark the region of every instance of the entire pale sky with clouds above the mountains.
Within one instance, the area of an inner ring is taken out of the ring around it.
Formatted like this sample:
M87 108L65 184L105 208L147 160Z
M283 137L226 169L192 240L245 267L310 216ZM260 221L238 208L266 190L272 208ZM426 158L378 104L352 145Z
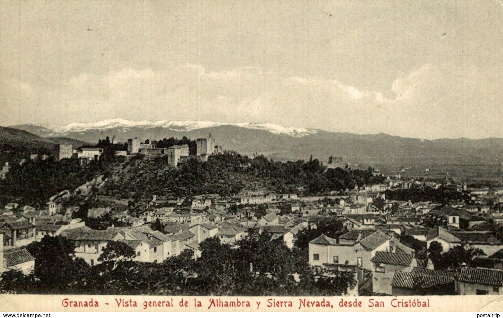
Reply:
M503 137L501 0L4 0L0 44L0 126Z

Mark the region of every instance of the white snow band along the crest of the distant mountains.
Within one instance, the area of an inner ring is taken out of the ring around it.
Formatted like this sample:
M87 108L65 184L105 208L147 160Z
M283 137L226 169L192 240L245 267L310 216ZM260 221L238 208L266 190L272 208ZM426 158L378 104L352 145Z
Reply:
M220 126L236 126L248 129L264 130L270 133L288 135L292 137L305 137L315 134L317 130L305 128L284 127L272 123L215 123L210 121L132 121L126 119L109 119L98 122L71 123L67 125L32 124L47 130L48 136L67 136L71 133L86 132L89 130L109 130L130 128L167 128L178 132L193 131L196 129L209 129Z

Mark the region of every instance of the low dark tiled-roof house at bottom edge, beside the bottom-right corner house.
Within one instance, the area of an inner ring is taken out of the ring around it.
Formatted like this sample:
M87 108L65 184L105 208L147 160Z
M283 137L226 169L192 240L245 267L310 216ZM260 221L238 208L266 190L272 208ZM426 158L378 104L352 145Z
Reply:
M456 273L443 271L425 272L397 271L391 281L391 294L397 296L411 295L455 295Z

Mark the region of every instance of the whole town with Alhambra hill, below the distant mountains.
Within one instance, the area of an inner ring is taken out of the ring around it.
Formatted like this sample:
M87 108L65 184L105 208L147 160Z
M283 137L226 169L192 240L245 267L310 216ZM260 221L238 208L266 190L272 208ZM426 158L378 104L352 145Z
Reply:
M352 170L334 156L247 158L222 150L211 133L194 141L114 136L18 159L2 172L4 290L503 294L497 184ZM14 195L14 183L32 180L28 171L67 166L63 177L87 171L86 182L44 192L45 202L26 187L31 201Z

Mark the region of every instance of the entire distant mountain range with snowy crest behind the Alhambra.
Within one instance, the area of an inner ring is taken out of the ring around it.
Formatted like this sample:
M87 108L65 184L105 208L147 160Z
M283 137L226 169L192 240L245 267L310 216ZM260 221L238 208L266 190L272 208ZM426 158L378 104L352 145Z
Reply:
M57 125L18 125L42 137L65 137L96 143L106 136L126 142L128 138L163 139L169 137L203 138L212 133L223 149L243 155L264 154L274 160L308 159L322 162L329 156L343 157L353 163L384 164L487 164L503 160L503 139L423 140L386 134L357 135L315 129L289 128L271 123L214 123L107 120Z

